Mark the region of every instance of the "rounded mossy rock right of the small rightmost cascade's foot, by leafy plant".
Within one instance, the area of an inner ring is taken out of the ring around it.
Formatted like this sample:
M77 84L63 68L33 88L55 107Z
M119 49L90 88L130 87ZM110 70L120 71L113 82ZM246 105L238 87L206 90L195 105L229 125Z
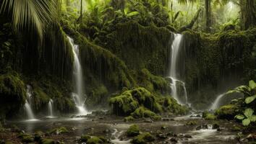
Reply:
M234 116L239 113L239 107L234 104L229 104L220 107L215 114L218 119L233 120Z

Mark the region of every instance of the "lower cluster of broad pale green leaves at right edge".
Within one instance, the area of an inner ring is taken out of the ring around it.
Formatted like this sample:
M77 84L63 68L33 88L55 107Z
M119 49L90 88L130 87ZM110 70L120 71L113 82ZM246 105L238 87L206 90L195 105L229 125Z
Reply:
M252 109L245 109L244 115L238 114L235 116L236 119L242 120L244 126L249 125L251 122L256 122L256 115L253 114Z

